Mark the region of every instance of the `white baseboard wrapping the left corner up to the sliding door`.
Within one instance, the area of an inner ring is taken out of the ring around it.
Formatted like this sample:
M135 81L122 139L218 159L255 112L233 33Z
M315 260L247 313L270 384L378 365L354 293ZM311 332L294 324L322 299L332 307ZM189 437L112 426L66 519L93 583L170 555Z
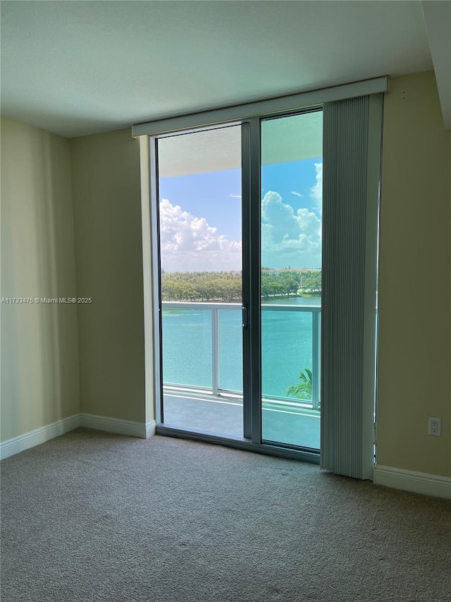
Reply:
M41 428L35 428L34 431L18 435L12 439L0 443L0 459L8 458L30 447L45 443L55 437L64 435L74 428L85 426L86 428L95 428L97 431L108 431L118 435L130 435L141 439L149 439L155 434L156 423L154 420L144 422L132 422L130 420L119 420L117 418L106 418L105 416L94 416L94 414L74 414L46 424Z

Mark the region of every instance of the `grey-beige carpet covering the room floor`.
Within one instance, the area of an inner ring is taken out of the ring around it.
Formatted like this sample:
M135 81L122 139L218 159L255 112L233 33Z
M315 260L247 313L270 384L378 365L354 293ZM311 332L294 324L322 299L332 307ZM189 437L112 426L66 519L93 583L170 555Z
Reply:
M448 602L451 502L78 429L1 462L1 602Z

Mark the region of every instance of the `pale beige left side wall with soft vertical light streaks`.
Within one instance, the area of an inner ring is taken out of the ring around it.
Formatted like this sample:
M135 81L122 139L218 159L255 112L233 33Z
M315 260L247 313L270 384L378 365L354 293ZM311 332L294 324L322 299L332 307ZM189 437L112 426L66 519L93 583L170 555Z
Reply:
M73 297L68 140L1 119L1 297ZM1 305L1 440L79 410L77 307Z

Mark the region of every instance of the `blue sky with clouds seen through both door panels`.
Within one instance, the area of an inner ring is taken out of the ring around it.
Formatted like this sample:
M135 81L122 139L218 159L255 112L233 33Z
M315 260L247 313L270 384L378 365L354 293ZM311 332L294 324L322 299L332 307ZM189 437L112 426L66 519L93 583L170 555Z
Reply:
M240 270L240 169L159 186L163 269ZM321 157L262 167L262 265L320 267L321 186Z

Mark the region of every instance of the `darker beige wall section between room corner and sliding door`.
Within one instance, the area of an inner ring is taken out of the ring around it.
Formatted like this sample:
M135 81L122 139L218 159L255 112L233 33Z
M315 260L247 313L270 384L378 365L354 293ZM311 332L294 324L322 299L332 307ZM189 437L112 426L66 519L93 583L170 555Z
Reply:
M70 140L81 411L143 422L140 145L129 130Z

